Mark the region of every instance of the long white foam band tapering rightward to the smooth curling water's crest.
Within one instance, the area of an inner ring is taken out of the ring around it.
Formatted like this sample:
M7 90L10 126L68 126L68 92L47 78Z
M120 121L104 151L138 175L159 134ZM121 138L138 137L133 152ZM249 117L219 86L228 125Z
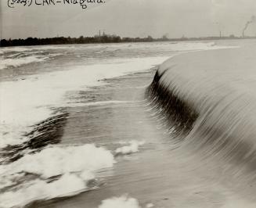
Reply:
M72 102L65 97L69 91L86 90L88 86L103 84L99 80L149 70L165 59L168 57L117 59L111 63L77 66L70 70L30 76L23 81L0 83L0 147L26 141L23 134L31 131L34 124L47 119L52 113L51 107Z

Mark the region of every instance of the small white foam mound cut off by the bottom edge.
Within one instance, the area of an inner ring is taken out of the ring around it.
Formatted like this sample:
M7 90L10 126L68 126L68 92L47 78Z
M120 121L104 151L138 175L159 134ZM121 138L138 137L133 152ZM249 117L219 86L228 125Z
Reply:
M113 197L105 199L99 206L99 208L139 208L139 202L135 198L123 195L121 197Z

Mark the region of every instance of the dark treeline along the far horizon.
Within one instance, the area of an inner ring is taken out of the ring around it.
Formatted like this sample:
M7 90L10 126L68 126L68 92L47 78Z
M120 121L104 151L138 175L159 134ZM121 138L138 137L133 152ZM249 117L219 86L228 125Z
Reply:
M256 37L244 37L244 38L256 38ZM152 38L150 35L146 38L121 38L117 35L102 35L94 37L79 38L27 38L27 39L2 39L0 41L1 47L8 46L22 46L22 45L64 45L64 44L90 44L90 43L119 43L119 42L150 42L150 41L208 41L208 40L220 40L220 39L241 39L234 35L227 37L205 37L205 38L168 38L163 36L162 38Z

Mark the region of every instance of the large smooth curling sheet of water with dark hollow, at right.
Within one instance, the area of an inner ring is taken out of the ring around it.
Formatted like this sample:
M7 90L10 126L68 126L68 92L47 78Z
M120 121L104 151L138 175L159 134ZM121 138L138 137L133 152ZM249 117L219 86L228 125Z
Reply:
M146 90L178 145L200 152L202 160L239 167L241 177L256 170L254 53L250 47L176 56L158 68Z

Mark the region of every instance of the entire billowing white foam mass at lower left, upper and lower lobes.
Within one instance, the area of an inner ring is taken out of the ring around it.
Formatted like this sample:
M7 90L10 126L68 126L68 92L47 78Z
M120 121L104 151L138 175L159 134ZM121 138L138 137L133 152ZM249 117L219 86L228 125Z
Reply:
M23 156L14 163L0 166L0 188L15 185L15 181L22 180L25 173L39 178L24 181L17 190L2 193L0 207L23 206L34 200L76 195L87 189L87 182L96 178L97 171L113 167L114 163L110 151L89 144L51 146ZM61 177L56 181L47 182L59 175Z

